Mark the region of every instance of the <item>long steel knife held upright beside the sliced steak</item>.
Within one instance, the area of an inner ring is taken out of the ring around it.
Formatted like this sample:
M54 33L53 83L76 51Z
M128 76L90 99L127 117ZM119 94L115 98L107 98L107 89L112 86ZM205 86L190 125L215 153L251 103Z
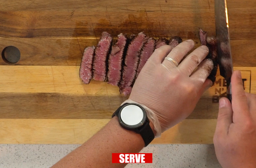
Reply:
M231 102L231 75L233 63L231 57L228 10L226 0L215 0L215 28L217 36L217 53L220 67L220 75L227 82L227 98Z

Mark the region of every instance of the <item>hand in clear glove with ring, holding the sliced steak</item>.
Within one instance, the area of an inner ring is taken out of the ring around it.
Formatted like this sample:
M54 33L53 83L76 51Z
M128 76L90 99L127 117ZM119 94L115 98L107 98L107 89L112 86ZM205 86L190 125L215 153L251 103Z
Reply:
M156 137L188 117L204 91L212 86L206 79L213 68L212 60L204 60L209 52L206 46L199 46L182 60L193 47L194 42L187 40L174 49L164 45L155 50L142 68L129 100L125 101L147 108ZM174 62L165 59L166 56Z

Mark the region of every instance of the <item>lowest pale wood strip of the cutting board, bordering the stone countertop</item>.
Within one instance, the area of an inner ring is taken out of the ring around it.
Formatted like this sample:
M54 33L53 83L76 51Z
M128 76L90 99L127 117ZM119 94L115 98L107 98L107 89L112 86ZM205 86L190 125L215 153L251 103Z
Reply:
M81 144L109 119L0 119L0 143ZM216 119L186 119L152 143L212 143Z

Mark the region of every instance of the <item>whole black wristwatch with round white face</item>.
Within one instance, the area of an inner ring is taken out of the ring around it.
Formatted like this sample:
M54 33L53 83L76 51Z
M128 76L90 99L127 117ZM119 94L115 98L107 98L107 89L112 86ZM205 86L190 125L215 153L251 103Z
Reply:
M124 129L139 133L145 142L145 147L155 138L146 111L142 106L136 103L125 103L115 111L112 118L114 116L117 116Z

